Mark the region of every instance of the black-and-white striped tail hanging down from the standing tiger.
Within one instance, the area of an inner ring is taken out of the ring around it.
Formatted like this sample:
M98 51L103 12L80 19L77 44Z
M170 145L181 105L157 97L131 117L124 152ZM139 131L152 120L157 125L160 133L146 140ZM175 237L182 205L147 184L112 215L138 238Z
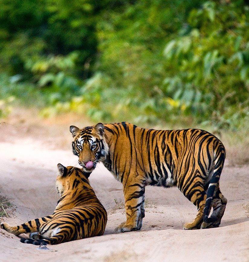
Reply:
M203 221L205 223L212 223L218 220L217 217L208 217L210 212L211 203L213 200L215 188L217 186L217 183L219 182L220 175L222 172L222 168L224 165L225 157L226 157L226 151L225 147L219 140L216 140L215 143L217 145L215 146L214 154L215 154L215 167L214 172L212 174L212 177L209 182L208 192L207 192L207 199L205 202L205 207L203 210Z

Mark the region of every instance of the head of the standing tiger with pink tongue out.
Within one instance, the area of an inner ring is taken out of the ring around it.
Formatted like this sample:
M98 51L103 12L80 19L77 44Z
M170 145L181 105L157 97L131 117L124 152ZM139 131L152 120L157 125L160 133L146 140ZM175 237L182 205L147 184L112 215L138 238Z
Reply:
M109 148L105 141L104 128L102 123L83 129L70 126L70 132L73 135L73 154L79 157L79 165L87 173L91 173L97 162L105 160L108 154Z

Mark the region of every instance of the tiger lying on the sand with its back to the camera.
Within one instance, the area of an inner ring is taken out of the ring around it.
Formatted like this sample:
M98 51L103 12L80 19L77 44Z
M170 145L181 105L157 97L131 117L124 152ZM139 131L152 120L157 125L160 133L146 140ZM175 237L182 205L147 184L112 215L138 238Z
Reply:
M89 184L89 173L61 164L57 167L59 174L56 189L60 199L53 215L37 218L20 226L1 223L2 229L14 235L38 231L38 237L37 233L33 235L35 239L21 238L23 243L56 245L103 235L105 231L107 213Z

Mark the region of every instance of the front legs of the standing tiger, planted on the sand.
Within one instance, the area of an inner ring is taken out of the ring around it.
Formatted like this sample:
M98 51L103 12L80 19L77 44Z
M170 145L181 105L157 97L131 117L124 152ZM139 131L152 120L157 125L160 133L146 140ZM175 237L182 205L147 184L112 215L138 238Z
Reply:
M126 184L124 188L126 222L121 223L115 232L129 232L141 229L144 217L144 186L139 183Z

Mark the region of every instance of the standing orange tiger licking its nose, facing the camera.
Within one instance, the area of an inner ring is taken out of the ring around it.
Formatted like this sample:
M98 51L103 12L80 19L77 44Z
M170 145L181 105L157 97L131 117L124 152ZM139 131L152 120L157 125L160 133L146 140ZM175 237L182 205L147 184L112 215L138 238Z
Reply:
M227 203L219 189L225 148L214 135L199 129L144 129L125 122L70 126L70 132L84 172L90 174L103 161L123 184L126 222L116 232L141 229L147 185L176 185L196 205L196 218L184 229L219 226Z

